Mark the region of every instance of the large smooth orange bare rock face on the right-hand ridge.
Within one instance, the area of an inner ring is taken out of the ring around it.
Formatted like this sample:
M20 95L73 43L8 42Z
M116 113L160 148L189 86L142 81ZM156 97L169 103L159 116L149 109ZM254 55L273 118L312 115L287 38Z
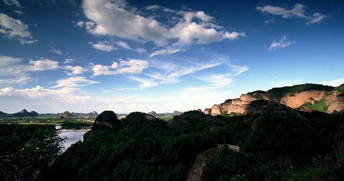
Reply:
M290 108L299 108L307 101L319 101L323 99L328 92L321 90L303 91L282 97L280 103Z

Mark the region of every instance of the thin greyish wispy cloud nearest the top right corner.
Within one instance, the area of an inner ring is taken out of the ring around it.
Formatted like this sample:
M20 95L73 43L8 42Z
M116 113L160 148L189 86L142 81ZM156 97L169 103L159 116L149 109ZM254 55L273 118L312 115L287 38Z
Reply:
M285 19L295 17L295 18L301 18L301 19L307 19L306 22L307 25L312 25L314 23L320 23L323 19L327 18L326 15L320 14L318 12L314 13L313 16L309 16L305 14L305 5L297 3L294 5L294 7L290 10L287 10L286 8L280 8L277 6L272 5L265 5L264 7L258 6L256 9L265 12L268 14L273 15L279 15L282 16Z

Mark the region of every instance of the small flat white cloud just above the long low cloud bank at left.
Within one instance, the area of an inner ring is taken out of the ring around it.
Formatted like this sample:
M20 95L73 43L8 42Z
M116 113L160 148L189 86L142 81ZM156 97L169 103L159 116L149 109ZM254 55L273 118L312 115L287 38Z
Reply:
M86 77L69 77L67 79L57 80L57 85L52 86L52 88L58 87L80 87L80 86L88 86L91 84L99 84L100 82L96 82L94 80L87 80Z

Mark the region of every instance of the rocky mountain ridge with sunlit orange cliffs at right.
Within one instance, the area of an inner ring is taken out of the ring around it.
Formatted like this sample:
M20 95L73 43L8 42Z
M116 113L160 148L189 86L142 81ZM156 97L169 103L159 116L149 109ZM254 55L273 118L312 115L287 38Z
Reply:
M222 104L214 104L206 108L204 113L218 114L246 114L252 101L275 101L294 110L304 112L327 112L344 110L344 84L341 86L323 86L321 84L300 84L272 88L268 91L256 90L242 94L237 99L227 99Z

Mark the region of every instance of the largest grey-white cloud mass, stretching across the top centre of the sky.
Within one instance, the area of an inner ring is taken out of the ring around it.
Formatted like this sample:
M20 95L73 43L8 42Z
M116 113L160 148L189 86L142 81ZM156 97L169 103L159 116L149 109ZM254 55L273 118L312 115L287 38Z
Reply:
M179 47L193 43L208 44L224 39L237 40L240 36L245 36L244 32L225 31L224 27L213 23L212 16L202 11L175 12L158 5L144 8L158 9L170 13L173 21L164 24L153 19L153 16L141 16L139 11L130 9L122 0L86 0L83 1L83 11L89 22L79 21L76 25L85 27L87 32L96 36L117 36L138 42L152 41L161 47L171 47L171 43Z

